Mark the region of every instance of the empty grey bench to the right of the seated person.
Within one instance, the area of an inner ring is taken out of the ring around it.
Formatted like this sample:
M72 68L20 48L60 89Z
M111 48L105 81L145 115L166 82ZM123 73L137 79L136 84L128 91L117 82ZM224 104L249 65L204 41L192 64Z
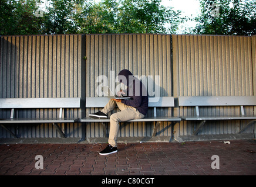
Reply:
M256 115L246 115L244 106L256 106L256 96L178 96L179 106L193 106L194 116L180 116L183 120L200 121L193 135L197 135L207 120L250 120L238 133L256 121ZM200 115L199 106L240 106L240 115Z

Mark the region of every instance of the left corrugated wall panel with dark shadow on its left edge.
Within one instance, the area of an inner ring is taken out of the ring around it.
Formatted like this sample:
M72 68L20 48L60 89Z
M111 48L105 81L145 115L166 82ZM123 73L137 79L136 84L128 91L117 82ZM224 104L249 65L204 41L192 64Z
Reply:
M1 37L0 98L85 99L85 35L3 36ZM83 72L82 72L83 71ZM83 101L85 103L85 101ZM82 108L84 108L82 106ZM84 109L68 109L67 116L82 117ZM58 117L56 109L16 110L16 117ZM9 117L2 110L0 117ZM62 124L68 137L81 137L80 124ZM13 125L20 137L60 137L51 124ZM2 138L10 137L0 129Z

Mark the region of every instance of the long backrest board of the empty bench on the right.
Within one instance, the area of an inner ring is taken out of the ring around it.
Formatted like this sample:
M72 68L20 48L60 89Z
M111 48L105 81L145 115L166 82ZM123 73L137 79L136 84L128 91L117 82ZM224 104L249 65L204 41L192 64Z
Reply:
M179 106L253 106L256 96L178 96Z

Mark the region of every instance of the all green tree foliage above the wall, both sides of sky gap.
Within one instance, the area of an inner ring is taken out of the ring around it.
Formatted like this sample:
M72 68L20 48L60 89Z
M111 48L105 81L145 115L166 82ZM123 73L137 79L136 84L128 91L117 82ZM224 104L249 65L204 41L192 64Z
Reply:
M38 3L45 7L38 16ZM46 3L47 2L47 3ZM175 33L180 11L161 0L1 0L0 35ZM200 0L196 34L256 34L256 0ZM170 2L171 5L171 2Z

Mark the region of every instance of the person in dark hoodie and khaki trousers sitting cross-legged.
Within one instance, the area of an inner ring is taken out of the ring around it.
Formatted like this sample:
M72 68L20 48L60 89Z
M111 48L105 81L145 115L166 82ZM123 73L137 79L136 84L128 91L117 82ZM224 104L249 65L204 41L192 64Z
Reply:
M90 114L90 117L105 118L107 113L112 111L116 105L121 110L110 116L109 145L100 155L117 153L117 133L119 122L126 122L132 119L142 119L148 110L149 98L143 83L133 76L129 70L122 70L118 74L119 82L127 86L125 91L117 92L117 95L125 94L130 99L110 99L105 108L99 112Z

